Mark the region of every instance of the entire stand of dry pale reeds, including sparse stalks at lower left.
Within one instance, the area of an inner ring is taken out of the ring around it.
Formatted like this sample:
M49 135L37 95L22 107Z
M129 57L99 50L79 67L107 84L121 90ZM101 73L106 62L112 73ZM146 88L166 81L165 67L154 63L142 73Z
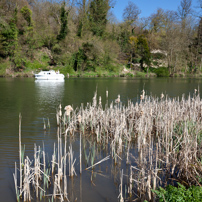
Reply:
M46 166L45 149L37 149L36 146L33 166L28 157L24 163L20 160L20 183L17 182L16 169L13 175L17 200L24 193L23 200L29 201L30 187L36 190L36 198L38 190L46 196L45 186L41 188L40 180L46 179L44 184L47 185L51 178L49 173L52 173L54 188L49 196L69 201L67 170L69 177L73 178L77 175L76 165L80 164L80 174L91 169L93 183L95 167L109 159L114 176L119 176L116 178L120 185L119 201L129 198L155 201L152 189L176 181L186 186L201 186L202 100L197 92L187 98L169 98L164 94L158 98L147 96L143 90L137 103L129 100L127 105L123 105L118 95L115 102L108 105L107 91L104 108L101 97L98 98L95 92L92 104L87 103L86 107L81 104L74 110L68 105L63 112L60 105L56 112L57 151L54 145L52 165ZM71 142L67 151L67 136L74 138L76 135L80 139L77 164ZM20 138L19 130L21 151ZM86 142L90 145L88 148ZM100 150L105 151L104 158L101 158ZM85 157L85 168L82 167L82 155ZM19 156L22 159L21 152ZM126 166L120 172L123 164Z

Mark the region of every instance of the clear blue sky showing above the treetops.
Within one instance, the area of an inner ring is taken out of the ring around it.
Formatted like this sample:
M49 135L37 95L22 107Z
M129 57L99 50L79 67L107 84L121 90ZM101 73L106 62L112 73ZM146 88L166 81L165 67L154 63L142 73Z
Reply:
M118 21L122 21L122 14L124 8L128 5L129 0L115 0L115 6L113 8L113 13ZM181 0L130 0L136 4L136 6L141 10L141 17L149 17L152 13L155 13L158 8L164 10L177 11ZM192 0L192 7L195 9L198 4L198 0Z

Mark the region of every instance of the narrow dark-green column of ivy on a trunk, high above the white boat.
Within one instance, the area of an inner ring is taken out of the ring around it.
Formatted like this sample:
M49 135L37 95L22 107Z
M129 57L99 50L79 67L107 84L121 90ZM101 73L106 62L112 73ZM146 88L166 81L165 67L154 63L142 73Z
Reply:
M65 39L68 33L67 16L68 16L68 12L65 10L65 3L63 3L61 7L61 12L60 12L60 21L61 21L60 33L57 36L57 39L59 41L62 39Z

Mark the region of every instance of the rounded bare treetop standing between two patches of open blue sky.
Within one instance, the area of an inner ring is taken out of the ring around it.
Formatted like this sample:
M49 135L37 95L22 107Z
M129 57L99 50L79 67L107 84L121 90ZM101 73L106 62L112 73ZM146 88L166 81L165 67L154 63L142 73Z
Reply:
M128 2L128 5L123 11L123 19L129 25L132 25L137 19L141 11L132 1Z

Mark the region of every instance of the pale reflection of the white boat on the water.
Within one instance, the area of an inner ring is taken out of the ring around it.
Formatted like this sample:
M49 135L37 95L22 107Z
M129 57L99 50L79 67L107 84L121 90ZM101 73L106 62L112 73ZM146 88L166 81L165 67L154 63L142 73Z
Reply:
M35 87L39 104L57 105L63 98L65 81L35 80Z

